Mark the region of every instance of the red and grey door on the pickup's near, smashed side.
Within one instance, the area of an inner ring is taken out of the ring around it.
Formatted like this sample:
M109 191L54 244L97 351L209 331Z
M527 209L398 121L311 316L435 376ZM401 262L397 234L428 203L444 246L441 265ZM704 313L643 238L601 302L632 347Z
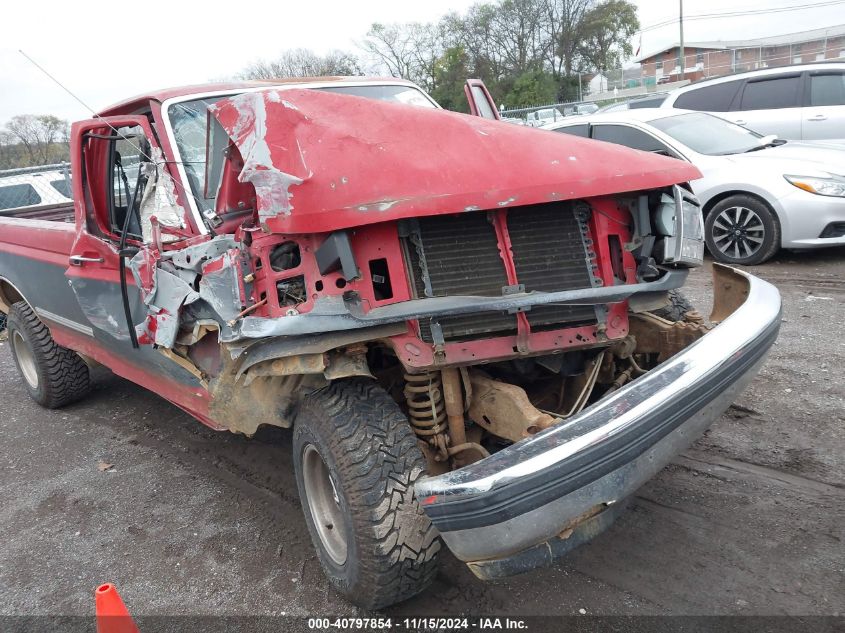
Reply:
M147 202L150 170L166 174L164 163L152 161L160 154L149 123L141 116L92 119L75 124L74 134L81 145L72 156L80 180L75 191L78 230L65 277L90 324L92 345L110 352L117 365L111 368L136 382L145 384L137 374L141 369L198 387L197 378L171 358L133 341L135 325L147 318L147 306L128 262L140 250L152 252L149 213L142 214L142 200Z

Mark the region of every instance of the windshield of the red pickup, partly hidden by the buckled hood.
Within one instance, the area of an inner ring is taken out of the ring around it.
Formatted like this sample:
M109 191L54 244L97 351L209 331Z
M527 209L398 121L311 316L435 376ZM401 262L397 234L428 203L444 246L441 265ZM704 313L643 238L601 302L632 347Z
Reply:
M413 86L375 85L375 86L328 86L315 88L338 94L348 94L379 101L390 101L406 105L436 108L434 102L424 92ZM234 93L233 93L234 94ZM218 95L205 99L194 99L174 103L167 110L170 125L173 128L173 139L179 150L179 158L185 168L188 184L194 194L193 198L200 212L213 210L217 199L217 188L220 184L220 164L206 169L206 156L223 158L228 140L223 135L212 134L212 143L208 146L208 108L221 99L233 96ZM212 127L212 132L215 127ZM206 182L206 179L209 182Z

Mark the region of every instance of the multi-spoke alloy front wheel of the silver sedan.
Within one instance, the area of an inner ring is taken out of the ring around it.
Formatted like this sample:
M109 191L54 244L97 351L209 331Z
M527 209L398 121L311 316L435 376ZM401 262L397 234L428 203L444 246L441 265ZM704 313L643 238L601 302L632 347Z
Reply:
M731 234L740 231L739 236ZM762 240L755 242L753 240ZM733 244L739 240L737 248ZM707 250L718 262L756 266L780 250L781 229L774 212L753 196L735 195L720 200L704 220Z

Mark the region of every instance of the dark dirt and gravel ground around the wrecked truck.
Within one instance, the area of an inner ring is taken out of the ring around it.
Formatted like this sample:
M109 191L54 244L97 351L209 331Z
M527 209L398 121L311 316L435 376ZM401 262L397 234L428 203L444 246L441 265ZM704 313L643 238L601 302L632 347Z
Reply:
M845 249L755 272L784 298L767 365L616 525L502 582L447 554L390 614L845 614ZM709 292L696 271L688 294ZM86 401L40 409L0 344L0 613L90 614L103 581L136 615L359 613L320 572L288 432L215 433L96 378Z

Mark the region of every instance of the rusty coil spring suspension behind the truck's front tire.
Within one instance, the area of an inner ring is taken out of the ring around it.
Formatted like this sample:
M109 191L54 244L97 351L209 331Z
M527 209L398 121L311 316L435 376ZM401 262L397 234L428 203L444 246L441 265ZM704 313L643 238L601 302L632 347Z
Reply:
M447 460L446 407L440 372L406 373L403 393L414 433L434 449L437 461Z

